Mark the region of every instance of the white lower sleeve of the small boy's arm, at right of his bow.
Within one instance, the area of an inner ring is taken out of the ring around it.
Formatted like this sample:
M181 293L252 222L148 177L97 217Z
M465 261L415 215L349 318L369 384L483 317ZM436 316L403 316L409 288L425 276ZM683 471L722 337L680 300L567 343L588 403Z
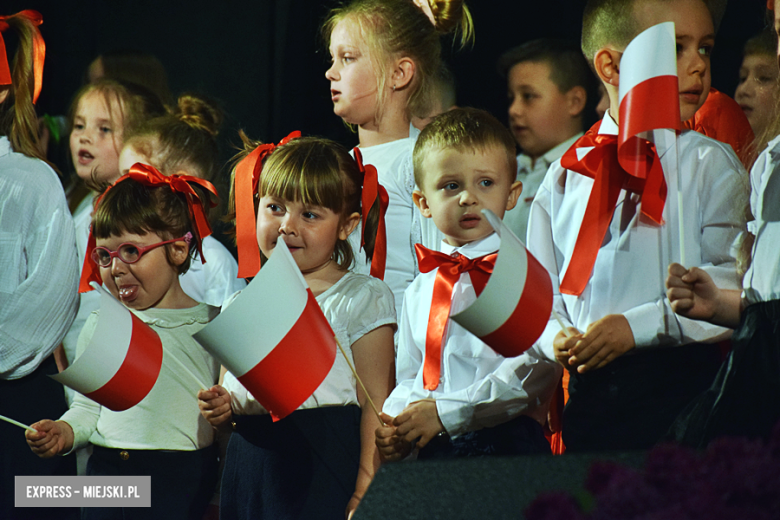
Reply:
M437 396L439 419L451 436L497 426L523 413L544 423L562 370L538 348L506 358L487 377Z

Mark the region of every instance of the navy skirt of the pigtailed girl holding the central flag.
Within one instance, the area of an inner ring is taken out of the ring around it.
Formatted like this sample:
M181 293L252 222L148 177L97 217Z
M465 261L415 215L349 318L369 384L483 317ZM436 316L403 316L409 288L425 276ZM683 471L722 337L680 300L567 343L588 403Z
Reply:
M233 416L220 491L230 520L343 520L360 463L360 407Z

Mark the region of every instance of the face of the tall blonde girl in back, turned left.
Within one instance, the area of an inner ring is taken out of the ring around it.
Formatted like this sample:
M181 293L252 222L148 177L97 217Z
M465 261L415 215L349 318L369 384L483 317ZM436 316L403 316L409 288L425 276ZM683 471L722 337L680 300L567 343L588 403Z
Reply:
M325 77L330 81L333 113L347 123L371 123L377 112L377 77L368 45L350 19L340 21L330 35L333 60Z

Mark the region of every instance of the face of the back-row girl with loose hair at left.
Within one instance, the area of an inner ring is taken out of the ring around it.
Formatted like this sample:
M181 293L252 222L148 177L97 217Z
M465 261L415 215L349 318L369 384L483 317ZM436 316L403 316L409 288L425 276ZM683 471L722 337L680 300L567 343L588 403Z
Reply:
M70 154L78 176L89 181L113 182L120 177L119 151L122 149L122 107L97 91L82 96L73 118Z

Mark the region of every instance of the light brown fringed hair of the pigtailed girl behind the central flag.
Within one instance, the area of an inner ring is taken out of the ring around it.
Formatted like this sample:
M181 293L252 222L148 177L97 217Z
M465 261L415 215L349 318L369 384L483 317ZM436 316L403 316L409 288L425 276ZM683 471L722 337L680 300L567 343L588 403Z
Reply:
M245 150L237 160L248 155L261 143L241 132ZM230 218L235 220L235 169L231 179ZM298 137L277 147L266 159L255 194L255 214L260 197L269 195L285 200L301 201L330 209L341 219L360 213L363 174L346 148L321 137ZM378 202L371 208L366 221L364 251L370 259L379 224ZM337 240L333 260L349 269L355 260L347 240Z

